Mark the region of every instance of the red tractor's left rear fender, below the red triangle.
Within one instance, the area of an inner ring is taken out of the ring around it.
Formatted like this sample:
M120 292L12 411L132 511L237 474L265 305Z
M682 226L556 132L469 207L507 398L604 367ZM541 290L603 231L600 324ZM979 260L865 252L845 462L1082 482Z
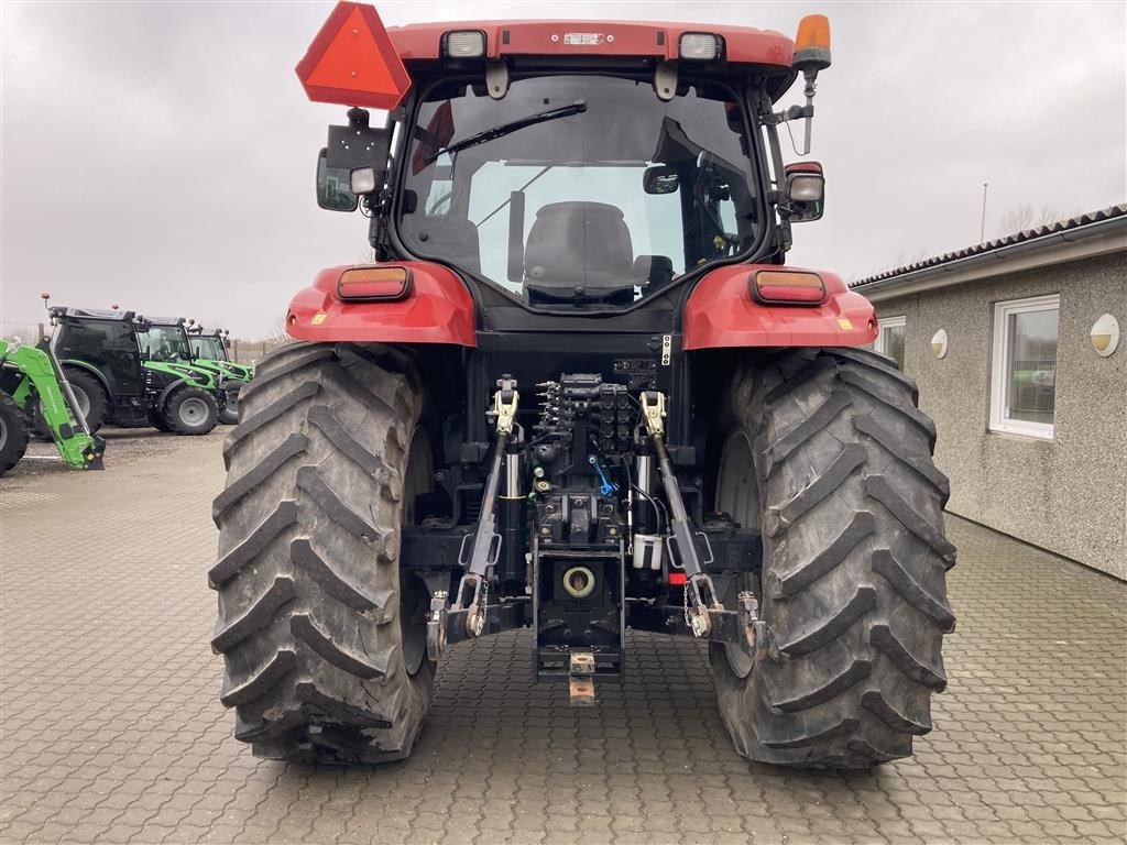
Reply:
M350 266L330 267L290 302L286 331L298 340L477 346L473 297L452 270L428 261L383 266L410 269L412 283L406 297L341 302L337 282Z

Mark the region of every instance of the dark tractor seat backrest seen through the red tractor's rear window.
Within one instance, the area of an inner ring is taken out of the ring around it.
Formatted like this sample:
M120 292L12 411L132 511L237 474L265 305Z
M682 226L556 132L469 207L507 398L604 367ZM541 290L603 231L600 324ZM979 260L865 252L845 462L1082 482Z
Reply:
M622 210L606 203L552 203L536 212L524 248L530 300L633 297L633 247Z

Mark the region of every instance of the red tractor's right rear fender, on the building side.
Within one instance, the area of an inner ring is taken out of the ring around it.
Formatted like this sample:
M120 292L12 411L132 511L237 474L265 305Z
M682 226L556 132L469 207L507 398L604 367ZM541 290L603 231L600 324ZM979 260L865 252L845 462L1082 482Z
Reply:
M862 346L877 337L872 304L838 276L818 273L826 286L820 305L764 305L752 299L756 270L778 265L733 265L707 274L685 304L684 348L742 346Z

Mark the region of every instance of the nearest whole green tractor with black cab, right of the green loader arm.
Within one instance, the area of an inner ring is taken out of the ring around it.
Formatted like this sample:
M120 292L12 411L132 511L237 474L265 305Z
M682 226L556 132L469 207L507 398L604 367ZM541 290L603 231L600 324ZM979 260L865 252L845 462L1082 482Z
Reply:
M192 366L183 327L165 331L134 311L47 312L55 354L91 432L110 422L203 435L219 422L218 382Z

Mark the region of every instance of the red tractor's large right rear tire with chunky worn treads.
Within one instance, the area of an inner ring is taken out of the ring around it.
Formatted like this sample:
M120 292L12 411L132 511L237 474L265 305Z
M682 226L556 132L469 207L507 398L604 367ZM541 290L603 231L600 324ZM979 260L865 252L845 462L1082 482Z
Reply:
M762 656L710 647L720 713L751 759L858 768L931 730L955 616L948 483L914 384L882 356L789 350L735 379L718 510L763 533Z

